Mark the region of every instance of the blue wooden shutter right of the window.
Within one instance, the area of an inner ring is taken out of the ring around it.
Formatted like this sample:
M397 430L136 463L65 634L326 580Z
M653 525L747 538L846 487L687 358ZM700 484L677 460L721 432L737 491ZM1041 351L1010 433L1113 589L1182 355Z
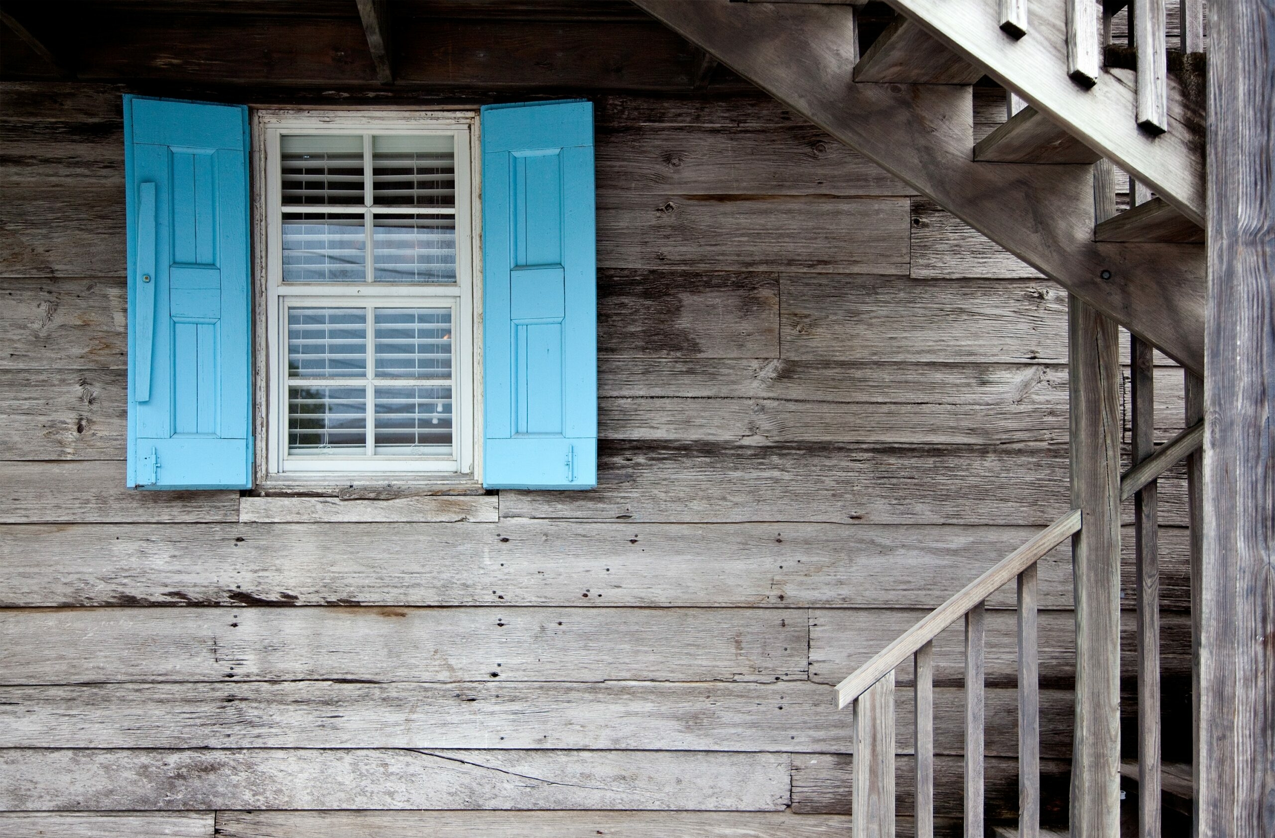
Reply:
M483 485L598 482L593 105L482 108Z

